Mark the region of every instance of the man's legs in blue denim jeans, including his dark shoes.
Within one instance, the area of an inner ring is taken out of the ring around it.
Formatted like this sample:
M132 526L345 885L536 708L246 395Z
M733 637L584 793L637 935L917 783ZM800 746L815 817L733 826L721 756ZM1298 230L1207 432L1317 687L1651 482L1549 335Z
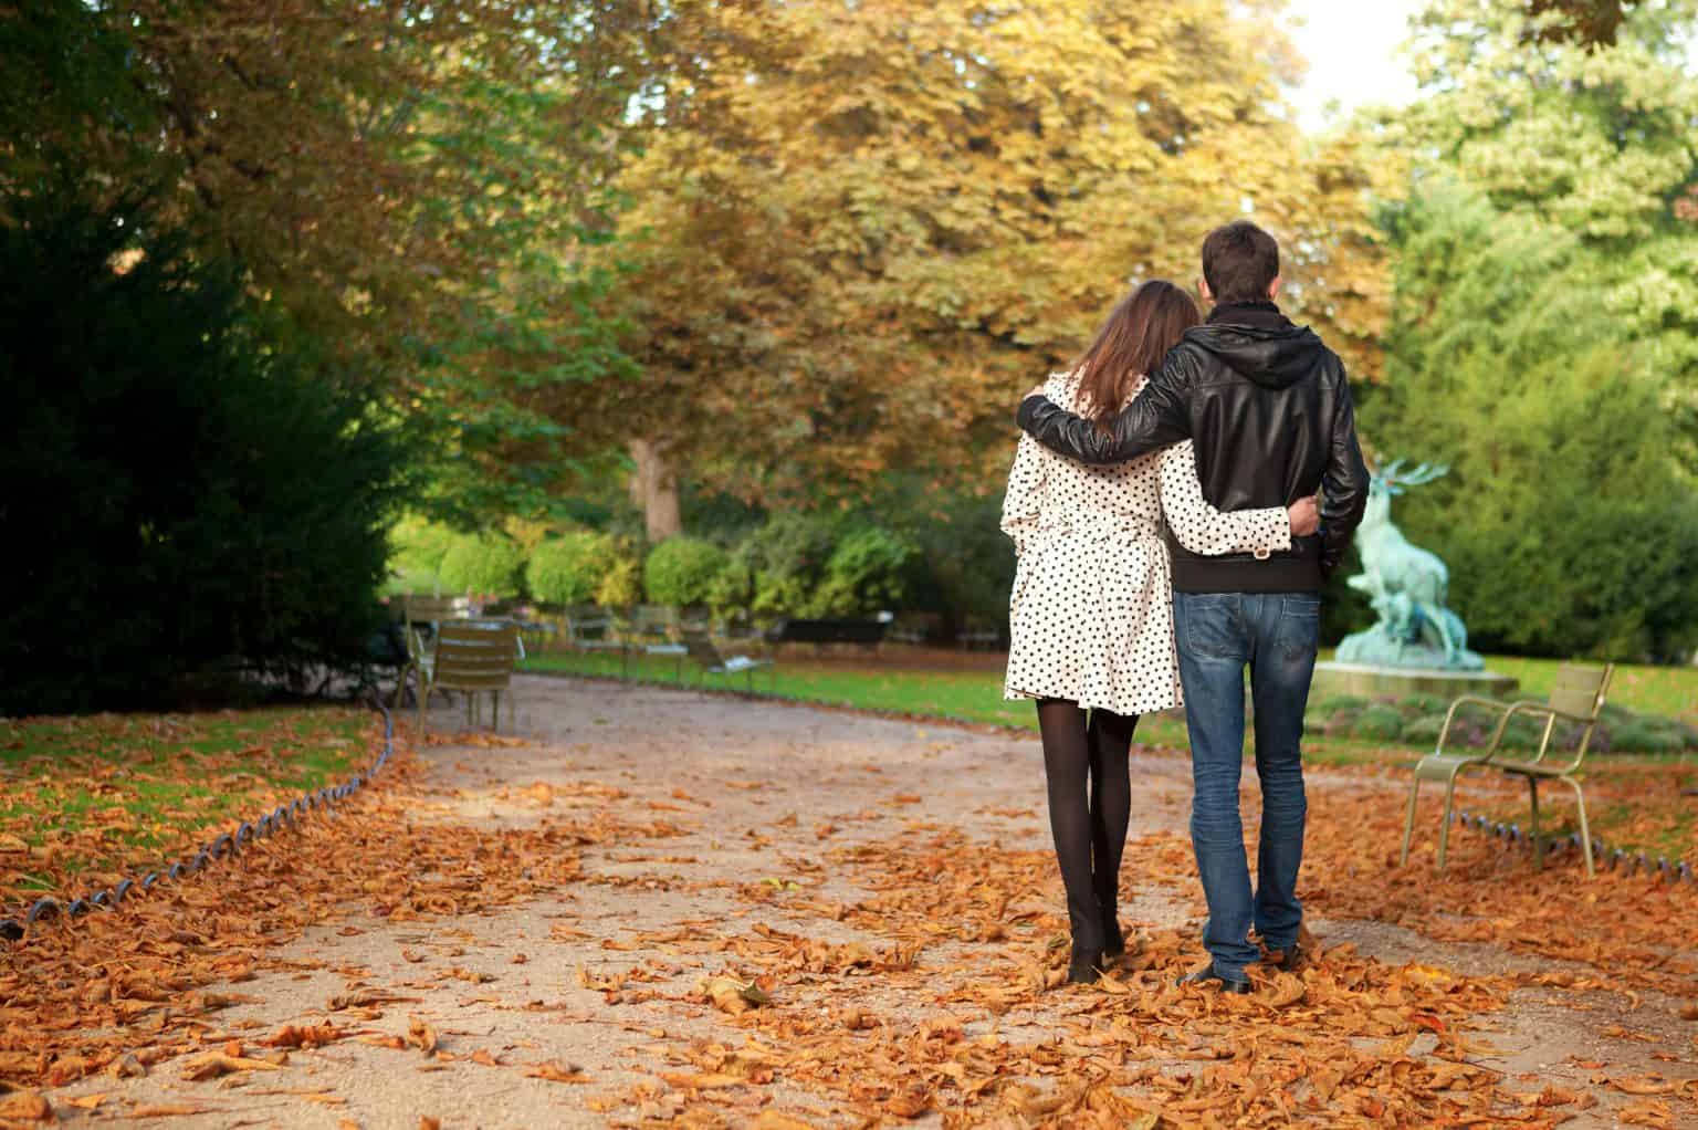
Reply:
M1190 843L1197 851L1209 924L1202 943L1214 972L1245 980L1260 953L1255 924L1270 950L1297 941L1302 906L1302 710L1319 644L1316 593L1173 593L1173 636L1185 685L1185 724L1195 795ZM1262 778L1258 887L1250 896L1238 777L1245 763L1245 664L1255 702L1257 775Z

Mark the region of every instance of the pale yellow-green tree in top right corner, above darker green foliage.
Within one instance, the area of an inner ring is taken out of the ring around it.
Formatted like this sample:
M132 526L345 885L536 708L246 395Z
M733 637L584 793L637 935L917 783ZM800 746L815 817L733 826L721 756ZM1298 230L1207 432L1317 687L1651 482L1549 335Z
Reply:
M1676 444L1698 469L1698 76L1681 48L1695 17L1691 0L1639 8L1613 46L1584 48L1537 41L1559 17L1513 0L1440 0L1416 36L1431 97L1387 141L1598 253L1589 291L1666 374Z

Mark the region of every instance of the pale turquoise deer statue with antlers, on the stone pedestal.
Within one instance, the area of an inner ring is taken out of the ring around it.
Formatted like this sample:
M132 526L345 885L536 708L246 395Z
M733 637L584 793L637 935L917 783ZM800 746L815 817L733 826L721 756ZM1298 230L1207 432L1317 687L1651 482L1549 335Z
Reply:
M1455 661L1467 647L1462 620L1445 607L1450 595L1450 571L1445 562L1418 545L1411 545L1391 522L1391 500L1411 486L1443 477L1445 466L1423 462L1413 471L1396 460L1377 471L1369 488L1367 510L1357 528L1362 573L1350 578L1350 588L1367 593L1380 615L1387 636L1404 642L1433 639L1447 661Z

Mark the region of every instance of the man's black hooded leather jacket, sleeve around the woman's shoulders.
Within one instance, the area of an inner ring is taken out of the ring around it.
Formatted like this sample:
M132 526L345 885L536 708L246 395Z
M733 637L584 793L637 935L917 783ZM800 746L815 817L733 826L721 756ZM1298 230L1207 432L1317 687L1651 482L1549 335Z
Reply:
M1289 506L1324 488L1321 532L1287 552L1204 557L1168 537L1182 593L1313 591L1345 557L1369 498L1345 365L1272 302L1221 306L1189 330L1104 432L1043 396L1020 427L1082 462L1122 462L1195 440L1202 494L1219 510Z

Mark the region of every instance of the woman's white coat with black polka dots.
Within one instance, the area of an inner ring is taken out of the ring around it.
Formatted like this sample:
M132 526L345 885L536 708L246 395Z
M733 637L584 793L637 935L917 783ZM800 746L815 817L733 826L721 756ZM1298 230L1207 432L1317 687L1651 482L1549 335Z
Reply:
M1075 374L1049 377L1044 394L1080 411ZM1223 513L1204 500L1189 442L1090 467L1020 437L1002 505L1019 556L1005 698L1068 698L1116 714L1184 700L1163 517L1192 552L1290 547L1284 508Z

